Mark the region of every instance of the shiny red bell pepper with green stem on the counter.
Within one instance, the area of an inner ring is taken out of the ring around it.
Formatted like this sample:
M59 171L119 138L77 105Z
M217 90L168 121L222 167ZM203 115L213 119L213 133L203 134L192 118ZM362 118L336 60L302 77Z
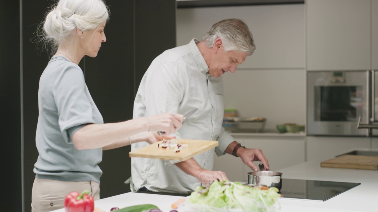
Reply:
M74 191L67 194L64 200L64 208L66 212L93 212L95 210L95 202L93 197L89 195L88 190L81 194Z

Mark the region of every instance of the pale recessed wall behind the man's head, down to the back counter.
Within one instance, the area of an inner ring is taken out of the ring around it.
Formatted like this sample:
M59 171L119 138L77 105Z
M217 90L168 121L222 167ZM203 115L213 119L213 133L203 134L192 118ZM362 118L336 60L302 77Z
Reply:
M178 9L177 45L201 40L217 21L242 18L256 51L234 74L223 75L225 108L242 117L266 117L266 129L305 124L304 11L303 4Z

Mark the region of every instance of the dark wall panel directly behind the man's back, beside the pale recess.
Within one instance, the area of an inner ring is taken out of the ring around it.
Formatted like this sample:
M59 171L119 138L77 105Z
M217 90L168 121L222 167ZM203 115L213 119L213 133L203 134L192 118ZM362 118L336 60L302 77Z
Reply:
M152 60L176 47L176 0L135 2L135 86Z

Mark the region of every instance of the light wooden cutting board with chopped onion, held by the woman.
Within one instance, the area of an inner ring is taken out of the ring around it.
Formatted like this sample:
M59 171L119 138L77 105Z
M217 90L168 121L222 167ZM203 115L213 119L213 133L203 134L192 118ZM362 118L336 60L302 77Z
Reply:
M208 151L218 146L218 141L207 140L191 140L191 139L176 139L177 143L188 144L188 147L183 147L180 152L175 152L173 148L164 149L156 147L157 144L163 143L159 141L157 143L150 144L143 148L137 149L129 153L129 157L141 157L141 158L154 158L160 160L178 160L184 161L194 157L202 152ZM167 140L169 141L169 140Z

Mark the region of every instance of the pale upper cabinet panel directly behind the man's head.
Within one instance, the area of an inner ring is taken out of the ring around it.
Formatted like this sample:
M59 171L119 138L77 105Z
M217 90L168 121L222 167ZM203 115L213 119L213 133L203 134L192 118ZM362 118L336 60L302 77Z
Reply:
M177 9L177 45L202 39L214 23L242 18L251 29L256 51L239 69L305 68L304 4Z

